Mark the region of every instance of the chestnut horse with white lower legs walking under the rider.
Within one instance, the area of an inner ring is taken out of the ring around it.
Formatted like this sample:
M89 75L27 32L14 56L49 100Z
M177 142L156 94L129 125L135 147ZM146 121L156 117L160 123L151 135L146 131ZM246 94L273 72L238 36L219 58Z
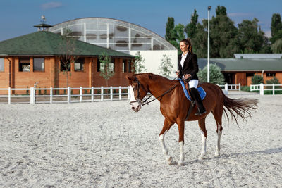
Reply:
M231 118L235 119L237 123L237 116L240 116L245 120L247 116L250 116L250 110L257 108L257 99L230 99L223 94L221 88L215 84L202 83L201 87L204 88L207 96L203 99L204 107L207 113L202 115L195 115L197 112L196 105L193 106L190 115L188 116L188 110L191 102L186 98L179 80L168 80L165 77L154 75L152 73L142 73L127 76L130 84L130 107L135 111L140 111L144 97L147 93L151 93L161 103L161 114L164 115L164 127L159 134L159 140L161 142L162 151L168 161L168 164L173 164L173 159L168 155L168 150L164 143L164 136L166 132L171 128L174 123L178 125L179 132L179 145L180 145L180 160L178 165L184 164L184 122L198 120L199 127L202 133L202 152L199 160L203 160L206 154L206 142L207 142L207 130L205 125L205 119L207 115L212 112L214 119L216 120L216 132L217 132L217 145L215 156L220 155L220 140L222 134L222 114L223 111L229 120L228 113L231 114ZM225 108L223 108L225 107ZM188 118L187 118L188 116ZM237 123L238 124L238 123Z

